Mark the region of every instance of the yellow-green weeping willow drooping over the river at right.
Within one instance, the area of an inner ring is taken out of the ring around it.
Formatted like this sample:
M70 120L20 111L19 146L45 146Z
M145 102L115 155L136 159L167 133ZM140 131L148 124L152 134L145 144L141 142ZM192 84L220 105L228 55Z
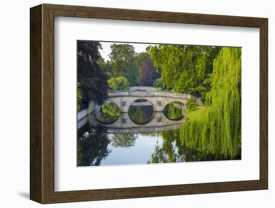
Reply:
M182 123L183 145L234 158L241 143L241 48L223 47L213 61L208 105L200 118Z

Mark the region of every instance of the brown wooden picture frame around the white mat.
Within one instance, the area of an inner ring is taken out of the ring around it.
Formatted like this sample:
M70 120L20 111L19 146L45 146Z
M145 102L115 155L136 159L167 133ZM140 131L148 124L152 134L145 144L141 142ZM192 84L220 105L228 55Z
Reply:
M54 191L54 16L259 28L259 180ZM267 18L258 17L57 4L30 8L30 199L57 203L267 189L267 25Z

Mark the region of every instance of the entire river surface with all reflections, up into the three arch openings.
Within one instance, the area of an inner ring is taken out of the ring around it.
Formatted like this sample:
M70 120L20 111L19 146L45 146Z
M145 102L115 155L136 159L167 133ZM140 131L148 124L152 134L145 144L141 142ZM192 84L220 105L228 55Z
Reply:
M182 145L184 122L180 103L169 103L154 112L146 100L135 101L128 113L107 103L78 128L77 165L123 165L239 159ZM195 142L195 141L194 141ZM197 141L198 142L198 141Z

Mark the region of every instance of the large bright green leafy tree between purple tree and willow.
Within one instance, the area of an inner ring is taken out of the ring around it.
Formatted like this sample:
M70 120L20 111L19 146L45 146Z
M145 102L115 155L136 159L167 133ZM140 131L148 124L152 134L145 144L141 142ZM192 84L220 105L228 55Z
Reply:
M212 62L220 47L160 44L146 49L155 67L161 68L163 86L189 93L212 72Z

